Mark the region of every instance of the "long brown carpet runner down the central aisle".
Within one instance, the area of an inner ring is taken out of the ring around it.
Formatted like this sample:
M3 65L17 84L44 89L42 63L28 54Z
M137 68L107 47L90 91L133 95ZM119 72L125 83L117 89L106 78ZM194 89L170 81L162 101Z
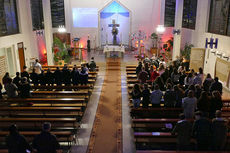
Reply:
M107 69L88 146L88 153L122 153L120 59L107 59Z

